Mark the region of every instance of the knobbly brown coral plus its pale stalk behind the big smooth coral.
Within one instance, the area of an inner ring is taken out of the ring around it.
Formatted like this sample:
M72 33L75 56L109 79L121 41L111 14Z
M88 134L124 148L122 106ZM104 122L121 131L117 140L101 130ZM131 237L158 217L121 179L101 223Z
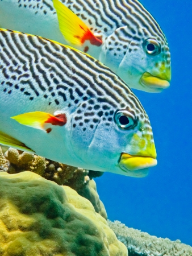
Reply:
M7 151L6 151L7 150ZM18 151L15 148L3 147L5 156L0 147L0 168L9 174L17 174L23 171L32 171L45 179L55 181L59 185L68 185L84 196L94 206L95 211L107 219L105 207L97 193L93 177L101 176L103 173L84 170L54 162L28 152Z

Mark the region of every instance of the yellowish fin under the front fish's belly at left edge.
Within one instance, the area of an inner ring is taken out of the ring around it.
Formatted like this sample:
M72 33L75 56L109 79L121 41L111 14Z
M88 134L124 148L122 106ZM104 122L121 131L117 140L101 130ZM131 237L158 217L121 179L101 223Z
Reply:
M10 135L2 133L2 131L0 131L0 144L9 147L14 147L18 150L24 150L35 153L33 150L31 150L31 148L27 147L24 143L18 141L18 139L11 137Z

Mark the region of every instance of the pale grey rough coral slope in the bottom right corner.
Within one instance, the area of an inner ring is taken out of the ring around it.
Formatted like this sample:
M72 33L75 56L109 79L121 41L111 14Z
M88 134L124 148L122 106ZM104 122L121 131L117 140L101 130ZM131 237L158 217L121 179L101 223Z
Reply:
M157 238L137 229L128 228L120 221L108 221L119 241L128 249L129 256L191 256L192 247L180 240Z

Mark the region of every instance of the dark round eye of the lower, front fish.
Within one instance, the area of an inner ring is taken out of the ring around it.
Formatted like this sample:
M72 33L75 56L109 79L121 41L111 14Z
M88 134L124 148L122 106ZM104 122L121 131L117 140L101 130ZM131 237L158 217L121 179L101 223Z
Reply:
M122 129L132 129L137 125L135 115L128 110L119 110L115 114L115 122Z

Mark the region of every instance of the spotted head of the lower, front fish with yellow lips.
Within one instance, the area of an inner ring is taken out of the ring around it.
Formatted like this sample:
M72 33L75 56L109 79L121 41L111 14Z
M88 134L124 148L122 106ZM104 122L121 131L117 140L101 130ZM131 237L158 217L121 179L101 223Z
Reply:
M155 143L148 115L125 87L130 100L124 103L89 100L79 106L71 121L70 144L84 168L143 177L157 164Z

